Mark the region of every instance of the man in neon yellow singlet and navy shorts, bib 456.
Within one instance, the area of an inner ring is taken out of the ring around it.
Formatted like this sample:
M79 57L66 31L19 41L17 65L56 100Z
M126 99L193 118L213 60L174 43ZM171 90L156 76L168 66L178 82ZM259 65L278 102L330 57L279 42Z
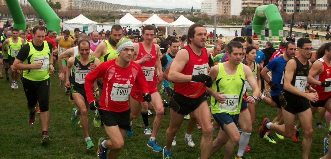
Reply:
M252 54L251 51L249 53ZM260 90L251 68L241 63L242 44L235 41L228 43L227 54L229 61L219 63L218 67L213 67L210 71L210 75L215 81L212 89L207 89L208 93L212 95L211 111L214 120L221 126L222 130L213 141L213 147L208 157L211 157L225 142L228 142L224 150L224 158L230 158L239 142L238 153L235 158L242 159L252 132L249 111L244 109L240 112L244 99L245 79L253 90L252 96L248 96L246 93L248 103L253 103L258 99ZM248 56L251 57L251 55ZM231 82L229 82L230 80ZM243 130L241 135L237 128L238 121Z

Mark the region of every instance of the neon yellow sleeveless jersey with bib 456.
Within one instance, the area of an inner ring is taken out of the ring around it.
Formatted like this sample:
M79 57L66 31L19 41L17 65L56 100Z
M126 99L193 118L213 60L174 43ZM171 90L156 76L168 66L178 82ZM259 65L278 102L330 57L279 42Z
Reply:
M211 96L211 111L215 113L239 114L241 102L243 100L245 84L245 74L243 63L239 63L237 71L233 75L228 75L224 70L223 63L218 63L218 75L213 82L212 89L215 92L224 92L222 94L226 101L220 104L213 96Z

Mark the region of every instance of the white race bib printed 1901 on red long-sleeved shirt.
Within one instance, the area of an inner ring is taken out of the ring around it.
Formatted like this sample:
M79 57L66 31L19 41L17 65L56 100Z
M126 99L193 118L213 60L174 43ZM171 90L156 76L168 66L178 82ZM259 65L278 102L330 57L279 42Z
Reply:
M127 101L130 96L132 85L131 84L113 84L112 93L110 98L113 101Z

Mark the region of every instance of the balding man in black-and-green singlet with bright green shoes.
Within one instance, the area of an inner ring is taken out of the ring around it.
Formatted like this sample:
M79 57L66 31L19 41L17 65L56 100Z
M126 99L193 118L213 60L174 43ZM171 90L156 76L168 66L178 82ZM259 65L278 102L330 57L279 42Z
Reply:
M87 39L78 42L78 51L79 55L68 59L67 72L72 73L70 76L69 73L67 73L67 82L65 86L70 88L71 97L78 106L78 109L73 108L72 110L71 124L74 125L77 122L78 115L80 114L80 123L85 136L86 148L90 149L94 147L94 144L88 134L87 110L89 103L86 99L84 83L85 76L93 68L98 67L100 61L90 55L90 42L87 41Z

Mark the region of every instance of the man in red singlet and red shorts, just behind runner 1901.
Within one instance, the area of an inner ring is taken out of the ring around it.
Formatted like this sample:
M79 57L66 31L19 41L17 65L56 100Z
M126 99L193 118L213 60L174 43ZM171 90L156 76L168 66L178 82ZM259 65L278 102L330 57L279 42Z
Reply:
M156 28L153 25L144 26L142 29L142 36L144 41L141 43L134 43L133 60L138 63L144 71L152 101L150 103L144 102L141 95L139 94L139 90L133 86L132 92L130 94L130 121L138 118L141 104L141 116L145 124L144 134L151 135L151 137L148 139L147 146L152 148L155 152L161 152L162 147L157 143L156 135L162 123L164 109L162 99L158 93L158 88L156 85L162 82L163 72L160 57L158 56L161 53L160 46L153 44L155 31ZM158 76L156 75L157 70L159 72ZM148 127L149 104L153 106L156 113L153 122L153 131ZM130 131L127 132L127 135L132 136L132 123L130 123Z

